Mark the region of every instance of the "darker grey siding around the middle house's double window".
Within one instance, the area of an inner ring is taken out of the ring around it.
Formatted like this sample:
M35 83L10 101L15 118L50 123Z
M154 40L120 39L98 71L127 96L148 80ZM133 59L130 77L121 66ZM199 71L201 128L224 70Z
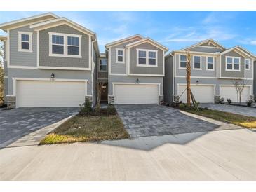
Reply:
M157 67L137 67L137 49L157 50ZM154 74L163 75L163 50L151 45L142 43L130 48L130 74Z

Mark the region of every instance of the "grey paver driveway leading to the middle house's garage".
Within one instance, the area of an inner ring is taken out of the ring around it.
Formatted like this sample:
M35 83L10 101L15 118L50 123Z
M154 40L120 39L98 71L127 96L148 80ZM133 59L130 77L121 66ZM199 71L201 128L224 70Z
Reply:
M240 128L220 126L159 104L116 105L116 110L131 137Z

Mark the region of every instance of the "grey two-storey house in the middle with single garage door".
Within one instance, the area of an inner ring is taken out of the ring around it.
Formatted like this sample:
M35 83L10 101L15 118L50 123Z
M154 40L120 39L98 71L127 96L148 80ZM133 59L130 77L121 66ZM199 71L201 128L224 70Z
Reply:
M164 55L168 48L139 34L108 43L105 48L109 103L163 101Z

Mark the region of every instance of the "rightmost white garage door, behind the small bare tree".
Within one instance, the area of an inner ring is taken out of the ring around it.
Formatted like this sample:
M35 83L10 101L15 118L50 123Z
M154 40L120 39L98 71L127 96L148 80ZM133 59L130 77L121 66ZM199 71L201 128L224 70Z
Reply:
M227 99L231 99L232 102L237 102L237 92L234 85L231 86L222 86L220 85L220 97L224 98L224 102ZM243 88L241 102L246 102L250 99L250 87Z

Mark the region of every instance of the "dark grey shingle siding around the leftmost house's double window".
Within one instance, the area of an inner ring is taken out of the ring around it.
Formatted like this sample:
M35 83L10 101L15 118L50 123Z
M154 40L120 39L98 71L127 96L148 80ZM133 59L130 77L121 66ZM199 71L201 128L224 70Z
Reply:
M81 58L49 56L49 32L82 35ZM68 25L60 25L39 32L39 66L43 67L89 67L89 36Z

